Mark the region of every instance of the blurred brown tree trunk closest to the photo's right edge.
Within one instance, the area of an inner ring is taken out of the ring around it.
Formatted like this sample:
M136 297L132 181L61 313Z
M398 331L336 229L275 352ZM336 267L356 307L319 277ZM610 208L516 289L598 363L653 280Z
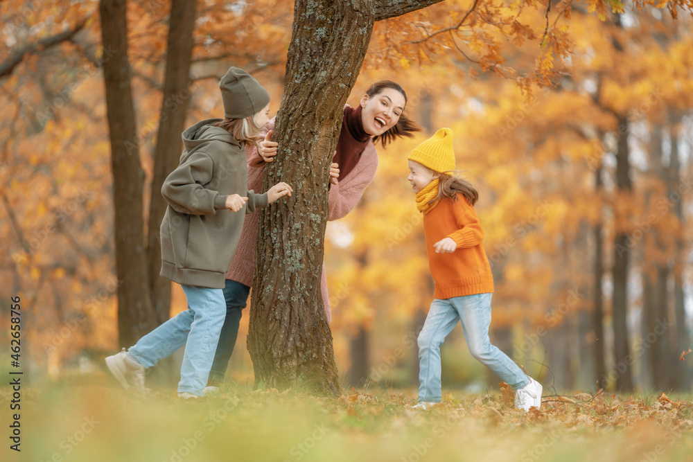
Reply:
M672 269L674 278L674 326L676 330L674 344L676 348L674 355L671 356L669 361L669 368L671 368L673 373L672 387L677 391L690 391L692 371L690 363L681 362L678 359L683 350L691 347L690 332L686 329L686 312L683 301L683 266L686 261L687 249L684 240L685 217L683 216L683 197L681 197L680 192L683 184L681 183L681 157L678 152L678 143L681 142L683 134L681 133L681 116L679 114L672 114L670 127L669 134L672 150L669 155L669 168L667 168L667 190L669 197L678 198L673 205L678 227L676 229L676 251L674 252L674 267Z

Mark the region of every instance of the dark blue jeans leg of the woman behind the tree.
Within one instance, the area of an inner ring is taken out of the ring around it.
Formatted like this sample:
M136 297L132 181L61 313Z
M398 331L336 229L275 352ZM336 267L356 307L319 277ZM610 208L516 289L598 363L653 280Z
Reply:
M231 281L231 279L226 280L226 287L224 287L226 319L224 320L224 326L221 328L219 344L214 354L212 370L209 373L209 383L219 384L224 381L224 375L226 375L226 369L229 366L229 359L231 359L231 354L234 353L234 346L236 346L240 317L243 314L243 308L245 308L249 294L250 287L247 285Z

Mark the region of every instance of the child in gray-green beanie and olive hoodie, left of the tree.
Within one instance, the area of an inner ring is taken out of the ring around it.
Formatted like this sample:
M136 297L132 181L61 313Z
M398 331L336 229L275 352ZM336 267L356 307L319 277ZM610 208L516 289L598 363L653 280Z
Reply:
M144 371L185 345L178 396L198 398L214 359L226 315L222 289L236 253L245 213L291 195L279 183L267 193L247 188L245 145L269 121L270 95L251 75L231 67L219 82L224 119L211 118L182 134L185 150L161 194L168 207L161 222L161 276L179 283L188 309L137 344L105 359L125 389L142 395ZM240 213L239 213L240 212Z

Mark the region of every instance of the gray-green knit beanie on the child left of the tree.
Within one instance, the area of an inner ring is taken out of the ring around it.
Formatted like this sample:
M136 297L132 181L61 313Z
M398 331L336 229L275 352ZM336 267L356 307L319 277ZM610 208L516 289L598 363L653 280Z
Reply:
M219 81L221 98L224 102L224 116L227 118L245 118L260 112L270 103L270 94L252 75L231 67Z

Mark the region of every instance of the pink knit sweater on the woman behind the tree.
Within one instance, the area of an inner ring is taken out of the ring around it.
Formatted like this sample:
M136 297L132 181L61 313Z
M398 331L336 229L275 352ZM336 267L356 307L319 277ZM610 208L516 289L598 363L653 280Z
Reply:
M265 138L265 135L270 130L274 130L274 118L268 123L260 136ZM265 161L254 147L246 146L245 154L248 163L248 189L259 191L262 189L263 177L265 175ZM356 167L349 172L349 175L340 178L337 184L330 186L329 192L329 211L328 221L339 220L340 218L351 212L356 206L358 199L363 195L363 190L368 186L376 175L378 168L378 153L373 145L373 141L369 141L365 150L361 153L361 157L356 164ZM328 175L328 172L325 172ZM246 215L243 223L243 233L238 242L236 256L231 263L231 269L226 274L227 279L245 284L249 287L253 285L253 274L255 271L255 243L258 232L258 213ZM325 314L327 321L332 320L330 310L330 298L327 293L327 276L325 273L325 265L322 265L322 281L320 283L322 290L322 302L325 306Z

